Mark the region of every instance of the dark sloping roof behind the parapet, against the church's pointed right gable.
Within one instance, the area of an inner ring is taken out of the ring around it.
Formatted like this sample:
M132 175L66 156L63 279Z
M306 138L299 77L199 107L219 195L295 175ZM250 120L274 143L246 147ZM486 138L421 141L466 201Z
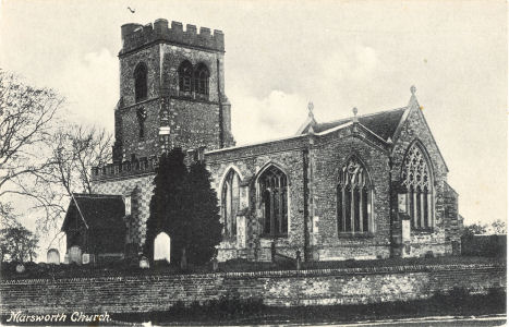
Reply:
M380 136L383 140L387 141L389 136L390 137L393 136L396 129L398 128L398 124L405 109L407 107L359 116L359 122L363 124L364 126L366 126L368 130L371 130L373 133ZM313 130L315 133L322 133L327 130L339 126L341 124L344 124L349 121L352 121L352 119L353 118L350 117L350 118L336 120L331 122L317 123L316 125L313 125ZM307 132L307 129L303 133L306 133L306 132Z

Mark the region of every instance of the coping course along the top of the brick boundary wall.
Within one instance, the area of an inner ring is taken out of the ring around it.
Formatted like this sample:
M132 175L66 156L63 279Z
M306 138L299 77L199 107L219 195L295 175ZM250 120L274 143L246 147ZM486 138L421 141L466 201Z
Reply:
M376 274L404 274L404 272L433 272L451 270L484 270L504 268L506 263L493 264L449 264L449 265L405 265L387 267L361 267L361 268L326 268L304 270L264 270L242 272L207 272L207 274L175 274L175 275L130 275L130 276L99 276L99 277L75 277L75 278L39 278L39 279L8 279L1 280L3 284L48 284L48 283L72 283L83 281L131 281L131 280L168 280L168 279L209 279L209 278L270 278L270 277L319 277L341 275L376 275Z

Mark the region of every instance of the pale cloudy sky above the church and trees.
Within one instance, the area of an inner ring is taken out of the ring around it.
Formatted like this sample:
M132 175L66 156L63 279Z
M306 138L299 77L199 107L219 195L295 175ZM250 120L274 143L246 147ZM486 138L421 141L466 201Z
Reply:
M417 88L465 223L507 219L507 3L490 1L23 1L0 8L0 68L113 131L120 26L221 29L238 144L400 108ZM135 13L128 10L131 7Z

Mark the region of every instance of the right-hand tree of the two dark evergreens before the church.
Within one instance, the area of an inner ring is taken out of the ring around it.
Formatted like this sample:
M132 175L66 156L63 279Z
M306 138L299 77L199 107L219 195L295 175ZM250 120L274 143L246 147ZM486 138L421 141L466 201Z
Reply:
M187 219L184 221L187 262L208 262L221 242L222 226L216 191L210 186L210 173L203 162L191 165L186 181Z

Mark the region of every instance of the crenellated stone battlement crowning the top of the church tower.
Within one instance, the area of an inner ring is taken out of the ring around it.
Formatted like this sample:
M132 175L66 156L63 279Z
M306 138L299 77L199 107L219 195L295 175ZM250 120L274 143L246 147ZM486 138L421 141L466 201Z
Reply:
M156 20L154 24L146 25L124 24L121 31L122 50L120 50L120 55L155 41L225 51L225 35L221 31L214 29L214 34L211 34L210 28L201 27L199 33L197 33L196 26L191 24L187 24L184 31L181 22L171 22L171 27L168 27L168 21L165 19Z

